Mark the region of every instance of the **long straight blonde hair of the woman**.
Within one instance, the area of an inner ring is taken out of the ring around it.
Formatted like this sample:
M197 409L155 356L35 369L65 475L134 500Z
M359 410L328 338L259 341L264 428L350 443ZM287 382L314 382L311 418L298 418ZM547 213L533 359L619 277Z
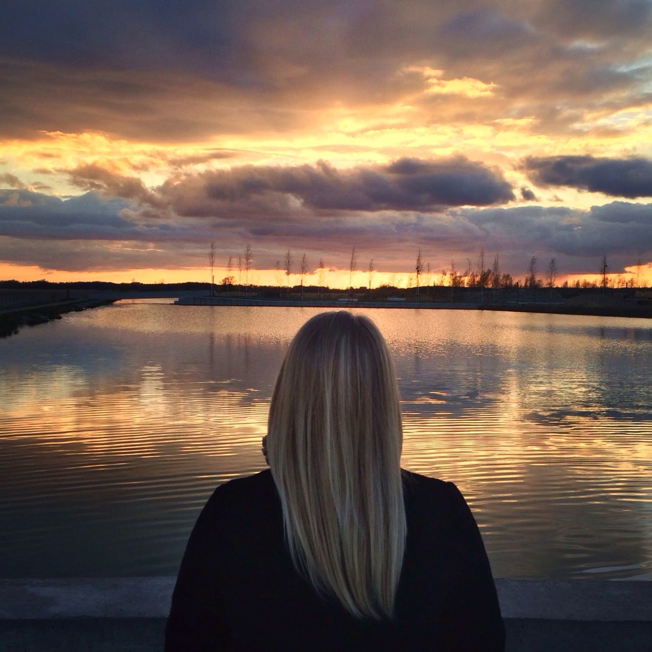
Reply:
M356 617L391 618L406 541L402 426L383 336L344 310L292 340L267 451L289 552L320 595Z

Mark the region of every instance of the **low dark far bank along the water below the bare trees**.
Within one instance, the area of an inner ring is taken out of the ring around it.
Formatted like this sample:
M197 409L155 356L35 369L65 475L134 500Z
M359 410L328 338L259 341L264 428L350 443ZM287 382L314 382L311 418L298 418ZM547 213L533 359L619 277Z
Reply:
M451 301L361 301L360 299L269 299L267 297L180 297L179 306L293 306L304 308L418 308L419 310L497 310L502 312L537 312L562 315L588 315L595 317L652 318L652 306L635 303L467 303Z

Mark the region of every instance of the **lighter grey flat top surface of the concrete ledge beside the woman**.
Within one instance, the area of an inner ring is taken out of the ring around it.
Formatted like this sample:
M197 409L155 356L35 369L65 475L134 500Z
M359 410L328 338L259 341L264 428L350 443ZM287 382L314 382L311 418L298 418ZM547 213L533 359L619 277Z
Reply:
M0 580L0 620L165 618L173 577ZM505 619L652 623L652 582L497 579Z

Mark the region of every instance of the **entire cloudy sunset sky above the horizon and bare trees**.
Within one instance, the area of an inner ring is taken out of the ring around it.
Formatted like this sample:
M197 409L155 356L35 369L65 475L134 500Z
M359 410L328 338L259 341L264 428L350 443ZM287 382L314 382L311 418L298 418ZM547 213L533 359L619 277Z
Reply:
M360 284L482 247L650 284L651 34L650 0L13 3L0 279L208 280L214 239L254 282L356 246Z

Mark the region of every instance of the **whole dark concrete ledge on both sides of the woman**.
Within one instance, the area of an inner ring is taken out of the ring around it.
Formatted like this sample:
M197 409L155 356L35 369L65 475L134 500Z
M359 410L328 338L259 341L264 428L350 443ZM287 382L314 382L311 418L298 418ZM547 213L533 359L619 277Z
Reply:
M163 647L174 578L0 580L0 652ZM508 652L651 652L652 582L496 580Z

